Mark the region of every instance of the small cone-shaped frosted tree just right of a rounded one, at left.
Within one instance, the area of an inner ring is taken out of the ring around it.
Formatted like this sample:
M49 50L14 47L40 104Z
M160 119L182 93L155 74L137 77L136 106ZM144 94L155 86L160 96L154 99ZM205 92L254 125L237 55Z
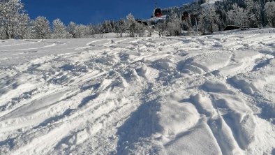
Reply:
M53 33L52 38L71 38L72 36L66 31L66 26L61 20L56 19L52 22Z

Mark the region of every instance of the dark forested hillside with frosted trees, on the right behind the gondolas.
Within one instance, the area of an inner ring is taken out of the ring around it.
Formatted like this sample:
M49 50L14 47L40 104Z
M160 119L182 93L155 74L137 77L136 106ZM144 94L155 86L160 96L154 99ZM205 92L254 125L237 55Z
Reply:
M198 29L200 34L223 31L228 25L250 28L275 27L273 0L223 0L214 4L205 2L199 0L181 7L165 8L163 14L180 18L183 13L188 13L188 18L177 24L186 31Z

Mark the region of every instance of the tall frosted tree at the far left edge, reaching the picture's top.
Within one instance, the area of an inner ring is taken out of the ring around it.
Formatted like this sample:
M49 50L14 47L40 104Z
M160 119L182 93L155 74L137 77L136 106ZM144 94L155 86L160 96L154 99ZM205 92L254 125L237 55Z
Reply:
M0 1L0 29L6 38L15 38L17 26L20 24L20 14L23 12L23 3L20 0Z

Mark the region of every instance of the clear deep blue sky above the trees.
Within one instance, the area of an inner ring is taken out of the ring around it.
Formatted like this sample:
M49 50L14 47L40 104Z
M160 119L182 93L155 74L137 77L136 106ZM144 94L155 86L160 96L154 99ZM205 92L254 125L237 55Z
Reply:
M192 0L158 0L158 6L181 6ZM38 15L50 22L60 18L68 24L96 24L104 20L119 20L132 13L136 18L146 19L154 9L154 0L22 0L31 19Z

